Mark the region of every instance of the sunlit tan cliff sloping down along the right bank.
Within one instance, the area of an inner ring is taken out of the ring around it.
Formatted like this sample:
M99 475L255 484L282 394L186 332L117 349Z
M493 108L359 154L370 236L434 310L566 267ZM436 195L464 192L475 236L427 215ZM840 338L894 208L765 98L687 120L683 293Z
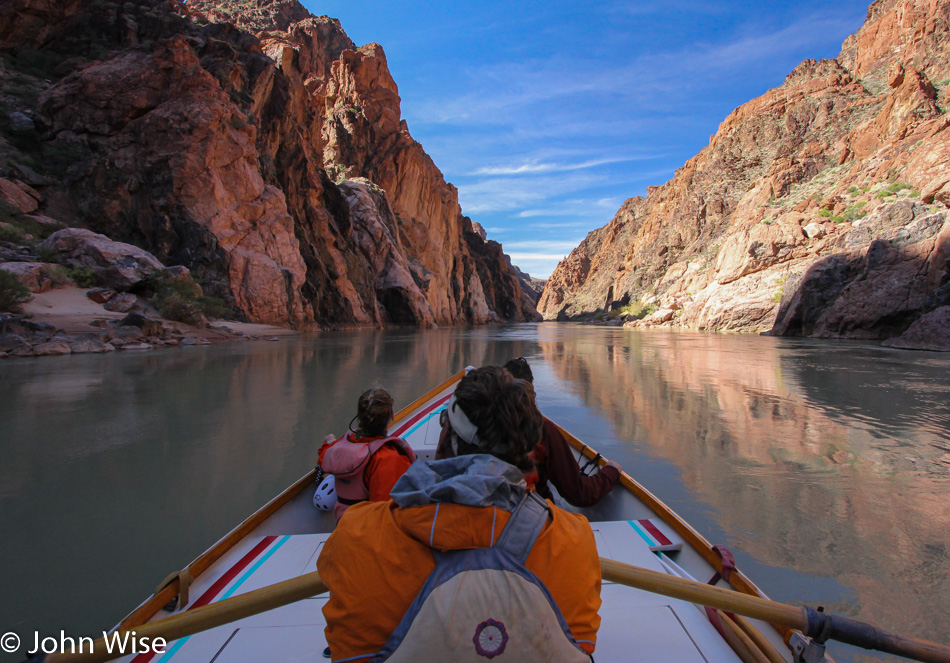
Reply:
M673 179L590 233L541 313L639 301L659 310L633 324L873 339L943 316L948 28L947 3L873 3L837 59L736 109Z

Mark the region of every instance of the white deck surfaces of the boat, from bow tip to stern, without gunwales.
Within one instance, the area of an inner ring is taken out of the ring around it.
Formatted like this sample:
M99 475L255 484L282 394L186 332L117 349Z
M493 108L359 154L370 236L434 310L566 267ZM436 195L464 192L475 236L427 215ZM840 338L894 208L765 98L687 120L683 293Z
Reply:
M439 412L445 406L448 393L444 391L430 399L392 431L406 438L423 458L434 454L439 436ZM622 519L592 521L600 555L669 573L660 553L651 551L646 540L649 535L635 523L635 519L655 518L655 514L630 493L619 488L614 493L616 495L605 500L602 508L591 514L594 517L596 512L601 512L616 517L622 512ZM190 589L191 602L185 610L314 571L334 520L331 514L314 509L311 498L312 490L298 494L196 578ZM665 525L652 522L663 529L664 534L675 538ZM681 552L662 554L669 554L667 559L676 560L702 580L712 575L712 567L687 546L683 546ZM564 572L570 573L570 569ZM613 583L604 583L601 597L602 622L594 653L597 663L739 660L698 606ZM325 596L300 601L168 643L164 654L140 654L120 660L135 663L314 663L326 660L322 658L326 647L323 632L326 622L322 613L325 602ZM160 610L153 619L168 615ZM773 631L769 636L775 640L777 634Z

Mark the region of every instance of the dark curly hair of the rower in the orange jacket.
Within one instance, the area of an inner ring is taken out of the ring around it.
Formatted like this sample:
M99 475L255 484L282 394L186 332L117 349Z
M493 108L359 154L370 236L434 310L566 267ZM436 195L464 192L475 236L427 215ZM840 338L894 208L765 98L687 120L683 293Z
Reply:
M455 388L455 400L478 428L481 446L458 440L459 455L490 453L523 472L534 470L531 452L541 441L541 413L534 387L501 366L469 372Z

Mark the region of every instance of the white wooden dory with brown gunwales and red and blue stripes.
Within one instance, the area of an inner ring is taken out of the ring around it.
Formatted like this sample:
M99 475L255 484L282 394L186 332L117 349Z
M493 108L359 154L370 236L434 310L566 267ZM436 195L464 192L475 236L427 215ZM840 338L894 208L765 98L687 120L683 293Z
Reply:
M458 373L396 415L390 433L405 438L420 458L434 456L440 431L439 413L463 375L464 372ZM566 435L579 458L596 456L574 436ZM116 630L142 628L170 614L187 613L313 572L323 543L335 525L332 512L313 507L313 491L314 472L311 471L171 577L163 588L123 619ZM578 511L590 520L602 558L701 582L722 570L720 557L710 543L629 476L624 475L621 485L597 507ZM570 569L564 572L570 573ZM748 595L764 596L740 571L732 571L728 582L719 580L717 584ZM183 600L177 600L180 589ZM735 620L724 618L720 633L704 609L693 603L607 580L601 596L603 621L594 653L597 663L740 660L780 663L794 658L783 637L788 632L784 629L780 632L777 627L761 621L739 616ZM321 652L326 647L322 613L325 602L326 595L298 600L180 637L169 642L164 653L147 652L120 660L134 663L312 663L324 660ZM174 607L169 611L171 606ZM796 636L792 643L800 640L800 635Z

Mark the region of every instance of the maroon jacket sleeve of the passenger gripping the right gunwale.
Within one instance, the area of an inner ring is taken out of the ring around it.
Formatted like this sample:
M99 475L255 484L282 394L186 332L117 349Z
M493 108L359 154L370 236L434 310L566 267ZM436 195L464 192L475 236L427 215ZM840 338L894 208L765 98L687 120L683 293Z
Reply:
M609 493L620 480L620 473L613 467L601 468L593 476L581 474L581 468L574 459L571 447L553 421L544 418L544 461L538 463L538 492L550 495L547 481L554 484L561 497L574 506L592 506ZM544 485L544 488L541 486Z

